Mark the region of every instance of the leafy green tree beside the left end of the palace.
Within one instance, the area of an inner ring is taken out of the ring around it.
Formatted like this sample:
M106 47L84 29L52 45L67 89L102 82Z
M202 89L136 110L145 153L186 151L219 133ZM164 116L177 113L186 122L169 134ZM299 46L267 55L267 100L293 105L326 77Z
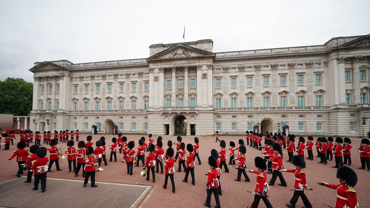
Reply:
M8 77L0 81L0 113L28 115L32 110L33 83Z

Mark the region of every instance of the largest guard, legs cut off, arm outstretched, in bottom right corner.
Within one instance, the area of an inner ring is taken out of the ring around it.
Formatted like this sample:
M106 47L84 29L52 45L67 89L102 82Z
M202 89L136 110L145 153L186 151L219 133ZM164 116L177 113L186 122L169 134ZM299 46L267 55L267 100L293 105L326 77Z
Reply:
M337 170L337 178L339 184L327 184L325 182L317 182L332 189L337 189L337 199L334 208L357 208L357 193L353 187L357 184L357 174L351 168L342 166Z

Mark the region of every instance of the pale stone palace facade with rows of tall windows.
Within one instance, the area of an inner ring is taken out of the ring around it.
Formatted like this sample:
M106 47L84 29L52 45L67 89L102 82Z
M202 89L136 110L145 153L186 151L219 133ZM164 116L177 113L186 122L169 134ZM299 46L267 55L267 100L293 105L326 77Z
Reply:
M299 135L370 130L370 34L323 45L214 53L212 40L153 44L148 58L34 63L33 130Z

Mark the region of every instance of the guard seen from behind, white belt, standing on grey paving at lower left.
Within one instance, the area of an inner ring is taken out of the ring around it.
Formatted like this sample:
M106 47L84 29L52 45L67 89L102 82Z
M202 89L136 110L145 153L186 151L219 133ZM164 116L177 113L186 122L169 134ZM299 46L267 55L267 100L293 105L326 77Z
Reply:
M47 162L49 161L49 158L45 157L47 153L46 151L47 151L46 147L40 147L36 150L36 155L38 159L32 161L33 165L31 167L35 175L34 187L32 189L37 190L38 183L41 180L42 192L45 192L46 189L46 174L48 172Z

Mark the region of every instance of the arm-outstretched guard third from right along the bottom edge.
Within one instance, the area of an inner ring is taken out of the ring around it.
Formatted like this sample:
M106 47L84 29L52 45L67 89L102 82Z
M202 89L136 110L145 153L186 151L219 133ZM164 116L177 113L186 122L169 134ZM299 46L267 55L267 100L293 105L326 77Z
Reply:
M256 188L254 191L256 194L252 205L247 208L257 208L261 199L265 202L265 206L267 208L272 208L269 199L266 197L268 189L268 185L266 183L267 174L265 172L267 169L266 162L261 157L255 157L255 166L257 170L249 170L249 172L257 174Z

